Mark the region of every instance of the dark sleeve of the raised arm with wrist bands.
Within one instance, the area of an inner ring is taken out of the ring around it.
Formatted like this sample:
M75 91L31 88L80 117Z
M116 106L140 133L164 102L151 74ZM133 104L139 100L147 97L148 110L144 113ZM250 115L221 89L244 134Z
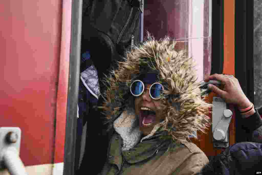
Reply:
M262 118L257 109L255 113L243 119L244 128L249 133L250 142L262 143Z

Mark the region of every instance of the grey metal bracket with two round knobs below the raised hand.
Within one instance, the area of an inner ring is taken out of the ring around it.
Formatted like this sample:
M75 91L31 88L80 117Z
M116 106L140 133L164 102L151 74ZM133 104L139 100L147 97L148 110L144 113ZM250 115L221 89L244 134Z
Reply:
M226 102L222 98L213 97L212 135L214 147L229 146L228 127L232 114L232 111L227 109Z

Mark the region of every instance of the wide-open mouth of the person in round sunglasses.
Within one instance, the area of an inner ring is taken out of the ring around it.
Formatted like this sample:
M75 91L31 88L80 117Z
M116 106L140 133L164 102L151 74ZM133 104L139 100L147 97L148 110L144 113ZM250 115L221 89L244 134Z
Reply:
M140 108L140 124L143 127L150 127L156 118L156 112L147 107Z

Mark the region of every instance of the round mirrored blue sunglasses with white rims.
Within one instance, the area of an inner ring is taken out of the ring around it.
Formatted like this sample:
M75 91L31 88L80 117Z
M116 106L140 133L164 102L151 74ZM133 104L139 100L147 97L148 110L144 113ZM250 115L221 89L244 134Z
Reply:
M144 90L145 85L141 80L135 80L130 85L130 92L135 97L138 97L141 94L143 94ZM163 85L160 83L153 83L149 88L149 96L152 99L157 100L160 99L161 94L163 94Z

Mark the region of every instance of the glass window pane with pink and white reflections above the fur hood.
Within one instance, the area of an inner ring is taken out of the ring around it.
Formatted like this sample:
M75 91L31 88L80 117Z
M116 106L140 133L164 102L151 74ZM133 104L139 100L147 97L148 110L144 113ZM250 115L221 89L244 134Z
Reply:
M211 0L145 0L144 37L169 35L198 63L198 80L211 72Z

